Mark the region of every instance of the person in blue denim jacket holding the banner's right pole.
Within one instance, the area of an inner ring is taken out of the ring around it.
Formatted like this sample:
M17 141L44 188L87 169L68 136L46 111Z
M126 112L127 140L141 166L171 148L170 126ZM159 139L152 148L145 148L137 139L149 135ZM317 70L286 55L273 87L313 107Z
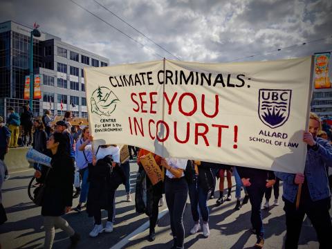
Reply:
M329 209L331 192L326 167L332 167L332 146L328 141L317 138L320 129L320 118L310 113L308 131L304 132L304 142L308 151L304 174L275 172L283 182L286 213L285 248L297 248L304 215L311 220L317 232L320 248L331 248L332 224ZM301 192L298 192L299 185ZM299 205L295 201L299 194Z

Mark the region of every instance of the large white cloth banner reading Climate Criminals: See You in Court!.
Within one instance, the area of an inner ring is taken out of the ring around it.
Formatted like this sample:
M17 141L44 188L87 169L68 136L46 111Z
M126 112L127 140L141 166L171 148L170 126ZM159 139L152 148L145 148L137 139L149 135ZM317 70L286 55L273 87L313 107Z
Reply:
M91 134L164 157L303 172L311 61L84 68Z

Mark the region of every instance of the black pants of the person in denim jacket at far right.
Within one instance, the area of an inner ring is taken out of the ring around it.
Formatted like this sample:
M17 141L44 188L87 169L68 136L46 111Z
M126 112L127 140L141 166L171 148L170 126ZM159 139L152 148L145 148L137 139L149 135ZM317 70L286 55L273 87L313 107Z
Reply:
M299 205L296 210L295 203L284 199L286 212L286 241L285 248L297 248L299 234L302 228L304 214L308 216L317 232L317 239L320 243L320 249L331 248L332 225L329 209L331 208L331 199L320 201L311 201L308 205Z

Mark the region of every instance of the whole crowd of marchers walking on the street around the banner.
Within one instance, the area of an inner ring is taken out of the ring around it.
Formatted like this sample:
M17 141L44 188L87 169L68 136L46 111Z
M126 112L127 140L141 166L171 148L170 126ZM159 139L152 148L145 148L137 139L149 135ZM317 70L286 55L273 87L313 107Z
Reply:
M150 151L129 147L130 158L122 160L118 145L94 147L89 127L71 126L73 118L71 111L67 111L63 120L57 121L55 125L53 125L54 117L50 116L50 111L46 111L40 120L33 118L28 107L24 107L21 117L13 109L9 108L8 111L10 111L7 120L8 128L1 124L0 159L3 160L8 147L17 147L20 125L24 127L24 136L28 137L24 140L26 145L33 145L34 149L51 158L51 167L35 165L35 177L41 185L46 186L42 199L42 216L46 234L44 248L52 248L55 227L61 228L68 234L73 246L80 241L81 235L75 232L62 217L63 214L71 211L81 213L86 208L86 213L93 217L94 225L89 233L90 237L98 237L98 234L102 232L113 231L116 216L116 190L121 184L125 186L127 201L132 201L129 160L133 160L133 156L137 158L139 166L136 181L136 212L145 212L149 216L147 238L149 241L156 239L158 207L163 205L163 194L165 194L169 210L169 223L174 238L173 248L184 248L183 215L188 196L193 221L190 233L196 234L203 230L203 236L209 237L210 214L207 201L216 199L216 205L231 201L231 176L233 175L237 200L234 210L239 210L250 201L252 232L257 237L255 248L264 246L261 208L279 205L280 181L283 182L282 200L286 213L285 248L297 248L305 214L317 232L320 248L330 248L329 236L332 234L329 214L332 182L331 174L329 174L329 168L332 167L331 133L322 131L320 118L314 113L310 115L308 131L304 132L303 140L307 144L308 151L302 173L289 174L199 160L162 158L151 153L160 171L165 174L164 181L153 184L142 165L142 160ZM0 121L2 123L2 118ZM75 185L74 193L75 172L80 174L80 184ZM215 191L216 178L219 178L219 192ZM227 190L224 188L225 178ZM61 184L59 184L60 179ZM0 187L1 183L2 181L0 181ZM299 185L302 185L302 191L299 192L300 201L297 207L296 197ZM275 199L273 204L270 204L272 189ZM245 193L242 203L241 190ZM145 198L142 195L145 195ZM265 203L262 205L264 195ZM75 197L79 197L79 202L75 208L72 208ZM2 205L0 213L1 207ZM108 212L104 226L101 210Z

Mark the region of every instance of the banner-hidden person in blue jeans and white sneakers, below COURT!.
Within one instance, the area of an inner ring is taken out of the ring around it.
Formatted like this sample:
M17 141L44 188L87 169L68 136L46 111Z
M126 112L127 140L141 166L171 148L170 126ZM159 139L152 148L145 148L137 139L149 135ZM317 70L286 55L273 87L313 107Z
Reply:
M209 209L208 209L208 194L213 187L213 175L211 167L214 163L194 161L195 176L192 183L188 183L190 208L192 210L192 219L194 219L194 226L190 230L191 234L196 234L201 230L199 223L199 214L203 220L203 235L210 236L209 228Z

